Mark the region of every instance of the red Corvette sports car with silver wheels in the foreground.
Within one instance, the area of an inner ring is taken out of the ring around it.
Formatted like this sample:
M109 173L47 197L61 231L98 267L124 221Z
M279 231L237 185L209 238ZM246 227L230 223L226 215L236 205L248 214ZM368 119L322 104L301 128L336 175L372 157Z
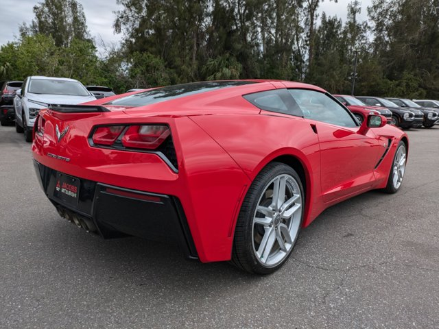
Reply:
M197 82L50 106L32 151L51 203L87 231L266 274L325 208L399 190L408 138L385 123L308 84Z

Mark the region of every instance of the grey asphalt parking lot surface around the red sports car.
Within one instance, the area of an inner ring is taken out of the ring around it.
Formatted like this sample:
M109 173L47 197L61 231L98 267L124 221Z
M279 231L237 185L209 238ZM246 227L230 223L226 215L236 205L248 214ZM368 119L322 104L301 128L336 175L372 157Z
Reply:
M76 228L0 127L0 328L439 328L439 127L407 134L399 193L329 208L258 277Z

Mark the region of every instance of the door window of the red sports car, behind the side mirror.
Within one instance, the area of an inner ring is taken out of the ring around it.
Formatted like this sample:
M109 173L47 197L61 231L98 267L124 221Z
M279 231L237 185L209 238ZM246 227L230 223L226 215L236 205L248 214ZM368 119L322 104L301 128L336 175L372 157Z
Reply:
M289 93L302 110L305 118L342 127L357 127L351 114L328 95L306 89L289 89Z

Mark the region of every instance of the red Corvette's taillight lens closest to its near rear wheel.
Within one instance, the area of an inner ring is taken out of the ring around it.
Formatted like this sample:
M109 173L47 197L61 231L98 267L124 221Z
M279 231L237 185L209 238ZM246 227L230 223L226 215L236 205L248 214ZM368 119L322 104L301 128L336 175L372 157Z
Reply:
M166 125L132 125L122 137L122 145L156 149L171 134Z

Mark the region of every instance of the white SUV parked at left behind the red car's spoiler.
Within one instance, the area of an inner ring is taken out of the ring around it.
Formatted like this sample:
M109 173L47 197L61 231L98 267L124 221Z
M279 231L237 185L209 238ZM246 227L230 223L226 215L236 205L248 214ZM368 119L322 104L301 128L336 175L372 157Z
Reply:
M32 142L32 128L42 108L47 108L49 104L78 104L95 99L78 80L27 77L14 98L15 130L24 132L25 140Z

